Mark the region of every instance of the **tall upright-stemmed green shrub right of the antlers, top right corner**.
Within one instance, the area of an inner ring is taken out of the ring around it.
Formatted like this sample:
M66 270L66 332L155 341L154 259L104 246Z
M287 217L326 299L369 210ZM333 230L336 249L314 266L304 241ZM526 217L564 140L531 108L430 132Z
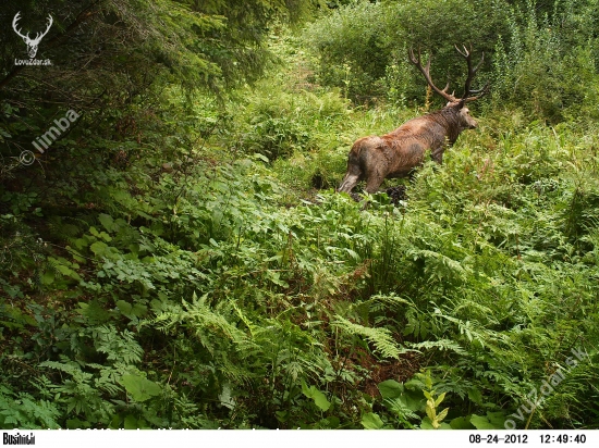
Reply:
M552 122L596 116L597 9L575 3L555 1L554 11L538 15L536 2L527 1L511 12L494 51L497 99Z

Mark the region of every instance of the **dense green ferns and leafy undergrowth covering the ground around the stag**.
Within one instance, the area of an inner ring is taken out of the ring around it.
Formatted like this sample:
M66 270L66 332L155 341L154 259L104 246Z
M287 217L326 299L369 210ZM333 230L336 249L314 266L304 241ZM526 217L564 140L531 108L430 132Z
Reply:
M400 202L356 202L352 141L425 110L352 103L304 41L5 165L1 427L598 427L590 103L473 105Z

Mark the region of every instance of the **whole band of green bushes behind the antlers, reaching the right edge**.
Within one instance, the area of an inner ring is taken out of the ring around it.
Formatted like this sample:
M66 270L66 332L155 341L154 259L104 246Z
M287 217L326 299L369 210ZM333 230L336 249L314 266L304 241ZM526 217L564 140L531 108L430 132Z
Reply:
M465 66L452 47L472 43L474 57L484 52L486 61L476 83L491 80L497 104L558 123L596 117L597 11L586 0L357 1L315 21L304 39L319 83L357 102L398 104L425 99L407 49L431 54L432 79L439 86L448 79L461 95Z

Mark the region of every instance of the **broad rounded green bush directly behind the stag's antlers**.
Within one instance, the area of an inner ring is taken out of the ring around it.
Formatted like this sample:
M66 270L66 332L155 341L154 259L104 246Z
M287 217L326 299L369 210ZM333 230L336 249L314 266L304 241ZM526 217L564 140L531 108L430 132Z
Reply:
M498 1L356 1L315 21L304 38L317 57L320 83L358 102L387 98L401 104L425 94L421 75L407 61L409 48L432 52L433 79L449 77L460 92L465 67L453 45L472 42L489 54L506 29L508 10Z

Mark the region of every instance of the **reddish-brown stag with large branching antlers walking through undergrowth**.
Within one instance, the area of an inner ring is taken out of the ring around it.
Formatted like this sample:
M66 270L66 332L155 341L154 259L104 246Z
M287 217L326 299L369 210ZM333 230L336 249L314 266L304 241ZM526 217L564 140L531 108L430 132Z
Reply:
M407 121L382 137L369 136L356 140L350 151L347 173L339 191L349 194L359 181L365 179L366 191L372 194L386 178L408 175L414 167L423 163L427 150L430 150L432 160L441 163L443 152L448 146L455 142L460 133L477 126L476 120L465 104L479 99L488 90L488 85L480 90L470 89L474 76L485 60L485 53L473 69L472 47L469 51L466 47L463 47L463 50L457 47L455 49L468 64L468 76L462 98L448 94L449 83L443 90L436 87L429 73L430 58L426 66L423 66L420 52L418 51L418 58L416 58L414 51L409 50L409 61L423 73L432 90L448 100L448 103L439 111Z

